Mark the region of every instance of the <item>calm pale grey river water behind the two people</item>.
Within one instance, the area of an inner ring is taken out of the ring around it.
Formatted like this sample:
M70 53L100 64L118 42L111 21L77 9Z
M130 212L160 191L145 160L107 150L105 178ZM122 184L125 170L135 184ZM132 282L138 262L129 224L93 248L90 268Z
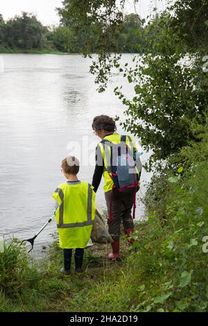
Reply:
M131 59L123 55L125 62ZM90 60L81 55L8 54L0 55L0 62L0 236L27 239L53 214L51 194L64 182L64 157L77 155L82 162L79 178L92 182L99 141L92 120L99 114L123 117L125 109L114 87L122 84L129 98L134 92L115 74L107 91L98 94ZM142 162L147 159L148 153L141 155ZM144 171L140 196L148 180ZM105 207L103 185L97 204ZM142 216L138 200L137 219ZM53 221L35 241L37 246L49 243L55 230Z

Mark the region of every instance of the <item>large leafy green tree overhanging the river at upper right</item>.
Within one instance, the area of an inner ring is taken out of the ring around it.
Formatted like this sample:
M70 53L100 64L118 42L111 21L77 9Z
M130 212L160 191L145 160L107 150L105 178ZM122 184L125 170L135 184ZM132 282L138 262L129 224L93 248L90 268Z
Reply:
M90 71L96 76L99 92L107 87L112 67L135 86L132 98L123 94L122 87L114 92L128 107L121 126L139 137L146 151L152 150L151 167L196 140L191 120L205 123L208 88L202 62L208 44L208 7L205 0L169 1L160 17L155 15L145 26L139 21L139 41L132 37L136 42L132 49L143 55L123 67L116 40L122 35L124 3L65 0L60 15L64 22L72 19L80 30L101 25L95 32L98 60L93 60ZM87 47L86 53L90 55Z

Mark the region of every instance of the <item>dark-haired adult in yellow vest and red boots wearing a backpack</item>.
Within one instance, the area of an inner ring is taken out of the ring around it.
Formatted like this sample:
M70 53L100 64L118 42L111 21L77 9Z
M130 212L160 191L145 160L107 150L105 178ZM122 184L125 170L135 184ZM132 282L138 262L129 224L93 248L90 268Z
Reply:
M95 117L92 123L92 128L94 130L94 133L102 139L102 141L98 144L96 148L96 167L94 171L92 185L94 186L94 191L97 191L103 175L105 181L105 200L107 203L107 210L109 214L108 226L110 235L113 239L112 253L110 253L108 257L109 259L116 259L120 257L119 239L121 236L121 221L123 223L124 232L128 239L129 245L131 246L134 241L131 237L131 234L134 231L134 222L131 212L135 201L136 191L139 190L139 170L141 169L138 170L136 168L136 187L134 184L133 187L126 187L129 189L126 189L125 192L119 191L118 187L115 187L114 181L112 180L112 175L116 174L112 173L109 163L107 164L107 152L105 151L104 146L106 141L107 144L121 144L122 139L125 139L125 144L127 145L125 147L132 148L131 153L134 153L135 161L135 157L137 156L137 147L135 146L135 143L134 141L132 141L131 137L116 134L115 121L106 115ZM116 155L114 154L114 151L111 151L109 153L112 156ZM108 162L114 162L114 159L112 158L112 160Z

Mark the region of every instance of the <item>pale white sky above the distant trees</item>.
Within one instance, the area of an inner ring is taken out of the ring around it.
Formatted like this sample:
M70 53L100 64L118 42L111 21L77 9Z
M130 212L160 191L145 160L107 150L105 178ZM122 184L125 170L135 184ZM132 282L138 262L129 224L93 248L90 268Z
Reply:
M133 0L127 0L125 12L135 12ZM165 9L166 0L140 0L137 3L137 13L145 18L156 4L159 10ZM62 0L0 0L0 13L4 19L21 15L21 11L33 12L46 26L58 25L59 17L55 12L56 7L62 6Z

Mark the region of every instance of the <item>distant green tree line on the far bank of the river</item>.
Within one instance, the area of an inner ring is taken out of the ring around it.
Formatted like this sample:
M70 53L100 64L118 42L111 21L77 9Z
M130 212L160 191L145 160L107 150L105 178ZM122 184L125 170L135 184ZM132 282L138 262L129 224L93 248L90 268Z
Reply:
M72 23L71 23L72 24ZM142 21L138 15L126 15L123 19L122 31L119 40L116 40L118 49L122 53L137 53L137 44L141 42ZM95 26L96 28L96 26ZM0 52L5 51L62 51L80 53L85 47L89 35L92 35L90 48L96 52L96 37L91 27L85 31L74 33L70 24L46 27L33 13L22 12L5 21L0 14Z

